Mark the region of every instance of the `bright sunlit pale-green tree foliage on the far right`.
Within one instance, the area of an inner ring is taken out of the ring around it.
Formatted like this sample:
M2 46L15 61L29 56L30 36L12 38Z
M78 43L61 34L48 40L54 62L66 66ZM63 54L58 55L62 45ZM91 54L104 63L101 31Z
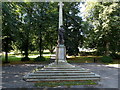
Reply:
M86 45L98 54L108 56L120 51L119 2L87 2L86 19L91 28L86 31Z

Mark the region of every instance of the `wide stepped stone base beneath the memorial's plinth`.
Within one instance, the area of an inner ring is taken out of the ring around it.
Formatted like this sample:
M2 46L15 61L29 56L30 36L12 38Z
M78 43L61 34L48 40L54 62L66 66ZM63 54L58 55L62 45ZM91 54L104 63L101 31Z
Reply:
M81 67L75 67L67 62L54 62L43 68L36 68L24 76L25 81L85 81L100 80L100 76Z

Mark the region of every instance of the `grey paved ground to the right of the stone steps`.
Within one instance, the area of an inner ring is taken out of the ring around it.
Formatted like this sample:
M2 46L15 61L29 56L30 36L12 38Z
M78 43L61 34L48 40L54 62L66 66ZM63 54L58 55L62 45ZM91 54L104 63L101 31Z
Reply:
M101 76L100 85L95 86L96 88L118 88L118 67L102 64L79 64L79 66Z

